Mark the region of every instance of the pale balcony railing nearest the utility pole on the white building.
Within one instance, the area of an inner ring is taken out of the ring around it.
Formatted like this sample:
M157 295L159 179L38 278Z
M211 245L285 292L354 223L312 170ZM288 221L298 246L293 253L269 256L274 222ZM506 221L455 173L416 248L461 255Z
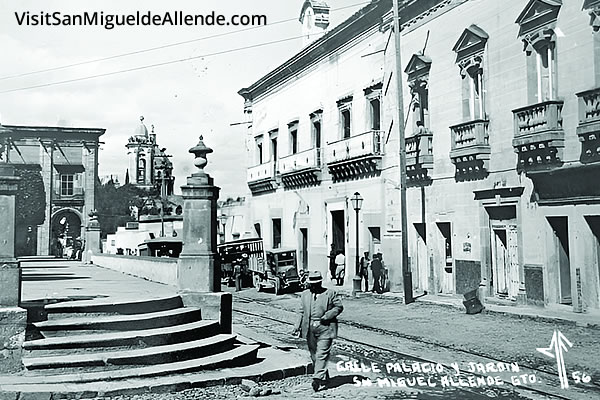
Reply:
M327 163L383 155L383 131L371 130L327 145Z

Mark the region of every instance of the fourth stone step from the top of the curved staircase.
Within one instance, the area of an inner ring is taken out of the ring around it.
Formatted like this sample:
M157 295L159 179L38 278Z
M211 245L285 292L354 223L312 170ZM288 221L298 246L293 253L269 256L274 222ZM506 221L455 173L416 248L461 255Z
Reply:
M102 353L24 357L28 370L97 365L154 365L202 358L233 348L235 335L219 334L191 342Z

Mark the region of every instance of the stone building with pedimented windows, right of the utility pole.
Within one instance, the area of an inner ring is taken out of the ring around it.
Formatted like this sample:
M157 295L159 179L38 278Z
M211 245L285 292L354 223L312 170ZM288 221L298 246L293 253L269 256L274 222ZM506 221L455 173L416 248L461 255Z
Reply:
M597 0L405 3L415 286L460 294L485 279L500 301L600 307L599 12ZM394 58L388 46L386 71Z

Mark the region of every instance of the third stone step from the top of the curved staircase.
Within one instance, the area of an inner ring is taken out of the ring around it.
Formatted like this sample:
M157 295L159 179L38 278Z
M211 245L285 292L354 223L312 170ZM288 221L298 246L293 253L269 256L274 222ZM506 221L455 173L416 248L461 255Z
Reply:
M190 338L198 339L213 336L219 333L219 329L218 321L203 320L154 329L30 340L23 343L23 348L26 350L44 350L82 347L137 346L140 344L145 346L159 346L163 344L185 342Z

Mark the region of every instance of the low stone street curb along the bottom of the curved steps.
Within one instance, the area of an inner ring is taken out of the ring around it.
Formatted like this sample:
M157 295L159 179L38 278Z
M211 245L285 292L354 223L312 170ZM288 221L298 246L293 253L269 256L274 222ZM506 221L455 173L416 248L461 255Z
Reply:
M85 399L95 397L112 397L121 395L139 395L148 393L173 393L180 392L187 389L193 388L206 388L213 386L224 386L224 385L239 385L242 379L250 379L255 382L270 382L289 378L293 376L309 375L312 370L312 364L306 363L304 365L298 365L294 367L288 367L283 369L276 369L272 371L266 371L260 374L247 375L247 376L235 376L230 378L214 378L209 380L193 382L189 376L182 377L179 382L168 382L159 383L156 385L152 384L151 380L140 382L139 386L132 386L128 388L115 389L115 390L77 390L71 392L2 392L0 391L0 400L25 400L25 399L44 399L44 400L56 400L56 399ZM176 378L173 376L172 378ZM125 382L125 381L124 381Z

